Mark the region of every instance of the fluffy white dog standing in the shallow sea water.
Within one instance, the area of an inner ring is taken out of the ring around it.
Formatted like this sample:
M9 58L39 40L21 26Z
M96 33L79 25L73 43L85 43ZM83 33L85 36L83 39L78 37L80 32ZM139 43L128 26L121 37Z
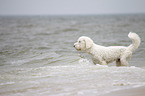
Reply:
M128 37L132 40L132 44L128 47L100 46L86 36L80 37L74 47L78 51L86 51L90 54L94 64L107 65L116 61L116 66L128 66L128 60L131 58L132 52L140 45L140 37L136 33L130 32Z

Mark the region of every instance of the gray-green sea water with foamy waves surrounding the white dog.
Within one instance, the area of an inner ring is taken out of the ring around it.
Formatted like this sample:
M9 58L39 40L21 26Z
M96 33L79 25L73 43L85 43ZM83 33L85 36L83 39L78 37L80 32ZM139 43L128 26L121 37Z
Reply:
M145 84L145 15L0 17L1 96L97 96ZM73 43L82 36L104 46L142 39L131 67L93 65Z

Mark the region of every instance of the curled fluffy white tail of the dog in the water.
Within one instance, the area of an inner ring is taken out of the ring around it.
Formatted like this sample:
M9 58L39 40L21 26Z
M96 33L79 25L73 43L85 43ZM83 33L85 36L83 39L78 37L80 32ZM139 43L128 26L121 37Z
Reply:
M132 40L132 44L128 46L128 49L131 51L134 51L140 45L140 37L136 33L133 33L133 32L130 32L128 34L128 37Z

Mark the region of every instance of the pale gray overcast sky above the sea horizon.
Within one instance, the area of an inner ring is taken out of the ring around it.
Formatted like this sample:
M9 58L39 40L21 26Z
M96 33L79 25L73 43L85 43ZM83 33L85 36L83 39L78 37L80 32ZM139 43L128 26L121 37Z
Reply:
M145 13L145 0L0 0L0 15Z

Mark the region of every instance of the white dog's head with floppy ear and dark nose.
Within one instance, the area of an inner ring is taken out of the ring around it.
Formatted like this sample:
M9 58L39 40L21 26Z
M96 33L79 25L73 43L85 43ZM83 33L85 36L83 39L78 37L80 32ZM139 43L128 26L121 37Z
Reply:
M74 44L74 47L78 51L85 51L87 49L90 49L92 47L92 45L93 45L93 40L91 40L89 37L82 36Z

